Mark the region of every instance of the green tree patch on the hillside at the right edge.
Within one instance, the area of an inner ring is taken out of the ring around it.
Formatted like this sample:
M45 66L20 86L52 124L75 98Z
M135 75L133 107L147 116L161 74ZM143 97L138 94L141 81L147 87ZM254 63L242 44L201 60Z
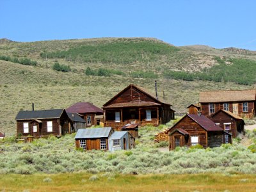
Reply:
M218 65L205 68L202 72L166 71L164 77L182 79L185 81L205 80L215 82L234 82L237 84L251 85L256 83L256 61L244 59L221 60L215 58ZM230 63L227 64L226 62Z

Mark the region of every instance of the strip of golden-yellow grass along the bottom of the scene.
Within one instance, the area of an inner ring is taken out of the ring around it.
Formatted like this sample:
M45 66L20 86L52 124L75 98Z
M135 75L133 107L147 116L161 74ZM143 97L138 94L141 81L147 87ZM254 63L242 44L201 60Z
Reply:
M1 175L0 191L255 191L256 175Z

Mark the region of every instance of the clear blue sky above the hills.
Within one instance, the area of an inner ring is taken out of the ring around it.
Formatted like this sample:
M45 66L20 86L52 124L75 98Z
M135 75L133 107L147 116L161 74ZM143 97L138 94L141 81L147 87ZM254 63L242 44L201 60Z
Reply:
M256 1L1 0L0 38L19 42L154 37L256 51Z

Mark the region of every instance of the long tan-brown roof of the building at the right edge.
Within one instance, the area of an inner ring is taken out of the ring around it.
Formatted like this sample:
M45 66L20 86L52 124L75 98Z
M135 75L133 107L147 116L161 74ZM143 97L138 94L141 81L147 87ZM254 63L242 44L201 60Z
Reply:
M256 90L200 92L199 102L235 102L256 99Z

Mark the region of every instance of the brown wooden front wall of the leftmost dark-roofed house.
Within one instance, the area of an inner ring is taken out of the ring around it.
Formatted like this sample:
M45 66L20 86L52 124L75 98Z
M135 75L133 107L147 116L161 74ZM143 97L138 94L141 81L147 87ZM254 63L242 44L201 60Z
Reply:
M54 136L60 136L60 120L59 119L44 119L41 120L42 124L36 124L38 125L37 132L33 132L33 125L34 125L34 120L17 120L17 135L22 134L22 136L35 136L35 137L40 137L40 136L49 136L49 135L54 135ZM52 121L52 132L47 132L47 122ZM24 127L23 123L28 122L29 125L29 132L24 133Z

